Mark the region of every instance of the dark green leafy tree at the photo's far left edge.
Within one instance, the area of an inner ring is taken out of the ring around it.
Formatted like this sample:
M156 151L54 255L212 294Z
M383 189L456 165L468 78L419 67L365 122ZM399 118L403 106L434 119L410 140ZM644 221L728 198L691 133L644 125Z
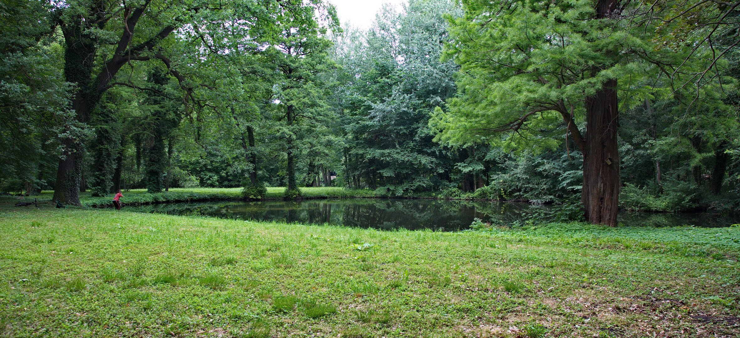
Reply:
M87 135L70 113L46 1L0 4L0 189L40 192L50 178L53 135Z

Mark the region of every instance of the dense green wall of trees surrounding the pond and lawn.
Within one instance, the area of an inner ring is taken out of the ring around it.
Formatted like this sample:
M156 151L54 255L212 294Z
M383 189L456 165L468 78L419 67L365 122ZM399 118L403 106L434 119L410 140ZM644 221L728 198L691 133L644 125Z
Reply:
M622 209L740 211L739 3L556 2L4 1L0 191L579 203L610 132Z

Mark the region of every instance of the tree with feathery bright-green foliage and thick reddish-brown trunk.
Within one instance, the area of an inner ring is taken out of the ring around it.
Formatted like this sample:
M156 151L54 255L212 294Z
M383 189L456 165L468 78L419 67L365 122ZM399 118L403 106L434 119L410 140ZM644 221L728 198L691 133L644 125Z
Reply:
M656 94L647 78L684 75L666 68L686 63L690 50L659 47L655 23L642 21L639 4L629 1L470 0L463 7L465 16L451 19L446 52L462 66L460 92L431 121L437 139L511 132L507 141L518 146L553 146L554 131L566 129L583 153L586 219L616 226L619 107ZM630 94L621 102L620 89Z

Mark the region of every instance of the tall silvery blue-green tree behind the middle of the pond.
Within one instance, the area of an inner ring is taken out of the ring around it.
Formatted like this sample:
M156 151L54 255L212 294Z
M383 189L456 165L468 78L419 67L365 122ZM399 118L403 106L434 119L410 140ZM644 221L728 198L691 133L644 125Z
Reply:
M410 1L402 13L385 7L367 33L340 41L339 109L346 138L346 175L391 195L449 185L454 154L432 141L434 107L455 92L458 67L440 61L451 1Z

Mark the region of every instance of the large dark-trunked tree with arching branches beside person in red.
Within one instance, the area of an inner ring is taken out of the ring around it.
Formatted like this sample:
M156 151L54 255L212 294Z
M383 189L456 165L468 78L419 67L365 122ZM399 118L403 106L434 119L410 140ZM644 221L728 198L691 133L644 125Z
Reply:
M187 84L186 76L173 67L172 58L180 55L166 49L175 30L183 29L182 38L202 41L205 53L218 53L208 48L212 46L201 31L226 30L243 37L251 30L252 35L258 35L275 26L274 13L279 9L294 7L300 4L269 0L55 3L50 15L64 36L64 76L75 86L72 108L76 120L87 124L104 92L113 85L126 85L113 81L118 72L136 61L161 61L186 87L186 99L191 99L195 85ZM72 136L62 138L61 143L64 153L58 164L54 198L79 204L84 143Z

